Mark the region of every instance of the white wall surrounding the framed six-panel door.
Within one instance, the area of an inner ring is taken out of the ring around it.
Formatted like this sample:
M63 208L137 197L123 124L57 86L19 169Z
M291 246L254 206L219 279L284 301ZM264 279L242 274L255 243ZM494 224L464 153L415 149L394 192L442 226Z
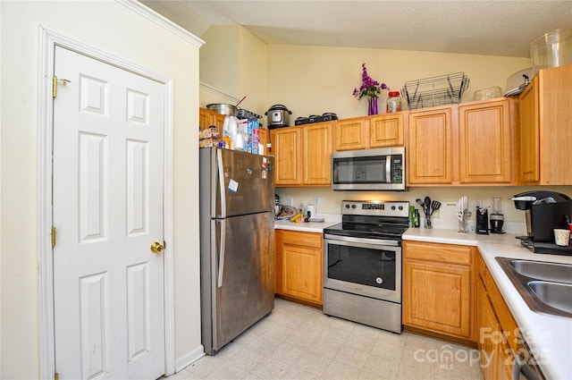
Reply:
M0 2L0 377L38 378L38 28L174 80L175 356L202 353L198 262L198 45L118 2ZM6 239L9 237L9 239Z

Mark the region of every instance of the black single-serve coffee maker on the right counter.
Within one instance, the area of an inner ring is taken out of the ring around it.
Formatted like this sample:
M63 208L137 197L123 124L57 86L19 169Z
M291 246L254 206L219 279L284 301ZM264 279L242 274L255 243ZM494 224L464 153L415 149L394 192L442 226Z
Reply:
M534 253L572 256L572 246L561 247L554 241L554 229L568 229L572 199L554 191L527 191L511 198L526 216L526 236L520 242Z

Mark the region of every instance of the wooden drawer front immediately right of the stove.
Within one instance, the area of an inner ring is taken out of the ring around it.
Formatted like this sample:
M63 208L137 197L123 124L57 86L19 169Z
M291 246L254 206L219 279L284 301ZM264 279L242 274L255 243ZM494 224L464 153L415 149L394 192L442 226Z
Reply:
M404 241L405 258L436 261L445 264L471 265L472 247L459 245L443 245L427 242Z

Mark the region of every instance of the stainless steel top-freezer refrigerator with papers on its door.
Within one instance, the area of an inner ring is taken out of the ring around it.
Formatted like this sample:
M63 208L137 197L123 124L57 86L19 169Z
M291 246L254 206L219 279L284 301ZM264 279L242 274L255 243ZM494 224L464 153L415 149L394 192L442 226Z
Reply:
M214 355L274 308L273 156L199 157L201 329Z

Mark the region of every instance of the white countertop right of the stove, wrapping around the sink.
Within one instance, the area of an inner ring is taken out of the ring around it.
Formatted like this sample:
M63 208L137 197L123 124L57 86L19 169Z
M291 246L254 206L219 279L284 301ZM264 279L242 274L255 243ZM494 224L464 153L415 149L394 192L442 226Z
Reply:
M477 247L522 330L526 343L533 350L543 375L547 379L572 379L572 318L539 314L528 308L507 274L494 259L522 258L572 264L572 257L533 253L522 247L516 237L515 234L477 235L454 230L409 228L403 235L403 240Z

